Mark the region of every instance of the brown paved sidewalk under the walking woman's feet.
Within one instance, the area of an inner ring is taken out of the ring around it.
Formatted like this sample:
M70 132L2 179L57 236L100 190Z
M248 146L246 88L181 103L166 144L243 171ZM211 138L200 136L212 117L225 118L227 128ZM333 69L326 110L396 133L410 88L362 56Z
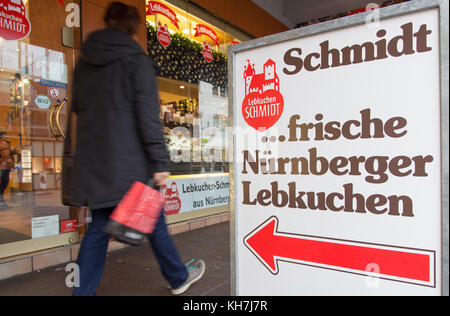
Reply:
M173 236L182 259L201 258L206 273L185 296L230 295L229 222ZM0 281L0 296L70 296L66 265ZM108 255L98 296L172 295L150 247L125 248Z

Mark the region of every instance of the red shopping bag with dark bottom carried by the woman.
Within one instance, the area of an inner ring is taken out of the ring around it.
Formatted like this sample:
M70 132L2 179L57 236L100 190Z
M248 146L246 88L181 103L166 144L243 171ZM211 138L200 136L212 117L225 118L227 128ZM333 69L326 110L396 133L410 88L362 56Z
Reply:
M132 246L143 246L163 210L162 194L135 182L112 213L104 231Z

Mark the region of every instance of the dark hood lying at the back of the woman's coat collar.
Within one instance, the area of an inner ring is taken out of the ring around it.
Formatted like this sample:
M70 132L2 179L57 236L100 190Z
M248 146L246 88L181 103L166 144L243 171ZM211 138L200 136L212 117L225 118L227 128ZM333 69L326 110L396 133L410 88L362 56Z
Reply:
M92 33L81 51L81 59L95 66L104 66L127 56L144 54L141 46L131 36L115 29Z

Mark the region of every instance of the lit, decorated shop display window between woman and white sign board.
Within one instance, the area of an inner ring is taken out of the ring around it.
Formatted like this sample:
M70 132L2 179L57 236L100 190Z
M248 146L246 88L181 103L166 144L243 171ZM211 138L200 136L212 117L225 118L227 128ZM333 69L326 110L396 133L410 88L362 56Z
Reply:
M159 69L170 151L167 214L228 206L228 58L240 42L167 1L147 1L148 51Z

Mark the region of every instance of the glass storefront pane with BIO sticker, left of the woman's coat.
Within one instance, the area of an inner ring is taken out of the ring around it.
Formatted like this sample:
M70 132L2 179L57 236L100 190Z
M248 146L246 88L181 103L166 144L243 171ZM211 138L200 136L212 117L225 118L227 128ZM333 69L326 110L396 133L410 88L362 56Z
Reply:
M61 204L61 132L76 60L75 49L63 45L67 13L60 1L3 2L9 4L0 7L0 258L9 253L6 244L60 235L70 219ZM52 123L56 104L62 106Z

